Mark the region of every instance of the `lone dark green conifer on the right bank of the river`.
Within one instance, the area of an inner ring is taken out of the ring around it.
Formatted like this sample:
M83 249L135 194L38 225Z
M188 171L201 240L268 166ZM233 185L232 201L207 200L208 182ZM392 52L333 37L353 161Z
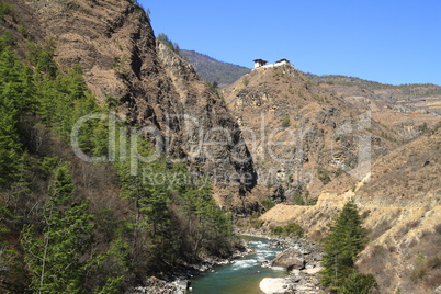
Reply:
M331 233L325 241L321 284L338 290L352 268L358 253L363 248L365 233L353 201L344 204L333 220Z

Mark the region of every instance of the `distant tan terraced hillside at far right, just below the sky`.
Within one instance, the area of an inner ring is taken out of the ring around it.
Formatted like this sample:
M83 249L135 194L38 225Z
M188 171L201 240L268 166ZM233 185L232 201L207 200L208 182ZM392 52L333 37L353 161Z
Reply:
M385 84L355 77L306 74L323 89L342 97L408 140L433 128L441 117L441 87L432 83Z

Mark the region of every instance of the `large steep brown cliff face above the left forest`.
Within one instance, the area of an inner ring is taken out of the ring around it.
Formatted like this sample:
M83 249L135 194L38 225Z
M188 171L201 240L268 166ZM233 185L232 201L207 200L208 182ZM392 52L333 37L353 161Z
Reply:
M80 64L100 104L116 99L131 126L219 188L245 195L255 171L240 128L193 68L156 42L148 15L131 1L25 1L65 67ZM151 134L155 133L155 134Z

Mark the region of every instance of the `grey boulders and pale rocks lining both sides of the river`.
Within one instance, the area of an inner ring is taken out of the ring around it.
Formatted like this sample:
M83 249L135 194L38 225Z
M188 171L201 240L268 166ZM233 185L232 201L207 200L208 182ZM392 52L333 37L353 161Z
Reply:
M272 248L283 249L272 260L258 260L261 268L275 268L289 272L285 278L263 276L260 281L260 290L263 293L326 293L319 285L321 248L318 244L306 238L274 236L252 228L237 229L235 233L237 236L268 239ZM134 287L126 294L185 294L194 276L200 276L206 272L215 273L217 267L235 263L238 259L251 253L253 253L251 248L244 242L244 250L236 251L227 259L210 259L199 264L189 265L173 281L151 276L146 280L144 286Z

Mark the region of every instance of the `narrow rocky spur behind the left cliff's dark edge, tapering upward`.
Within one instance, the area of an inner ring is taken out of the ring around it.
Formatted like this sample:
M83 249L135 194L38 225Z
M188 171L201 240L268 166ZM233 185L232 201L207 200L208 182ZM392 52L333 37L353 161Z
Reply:
M244 195L246 190L249 191L256 185L257 176L239 125L228 113L220 97L206 87L188 61L160 42L157 47L163 68L174 86L177 98L183 105L182 135L184 142L193 144L185 146L185 154L194 152L192 147L197 149L194 144L199 144L199 148L202 147L200 154L191 158L190 162L203 166L205 173L219 183L239 184ZM239 177L230 178L234 173Z

